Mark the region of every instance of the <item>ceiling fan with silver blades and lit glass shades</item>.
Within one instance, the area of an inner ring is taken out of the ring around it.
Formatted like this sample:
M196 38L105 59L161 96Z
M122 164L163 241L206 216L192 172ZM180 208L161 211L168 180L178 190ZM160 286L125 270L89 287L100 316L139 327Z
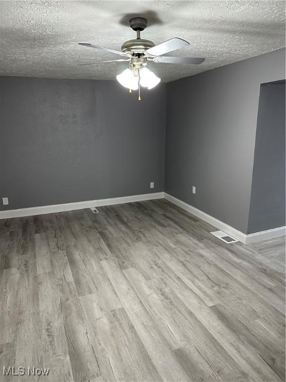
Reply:
M170 40L162 42L161 44L155 45L153 41L144 40L141 38L141 32L147 26L147 20L145 18L134 17L129 22L131 28L137 32L137 38L134 40L125 41L121 47L121 52L87 42L78 43L79 45L87 46L90 48L103 49L108 52L123 56L124 58L119 58L117 60L97 61L79 65L94 65L104 62L129 62L129 68L116 76L116 78L121 85L129 89L130 93L132 90L139 89L138 99L141 100L141 86L147 89L152 89L161 81L160 78L158 78L153 72L146 68L148 61L155 63L192 65L198 65L205 61L205 58L197 57L164 56L166 53L173 52L174 50L189 45L189 42L181 38L174 37Z

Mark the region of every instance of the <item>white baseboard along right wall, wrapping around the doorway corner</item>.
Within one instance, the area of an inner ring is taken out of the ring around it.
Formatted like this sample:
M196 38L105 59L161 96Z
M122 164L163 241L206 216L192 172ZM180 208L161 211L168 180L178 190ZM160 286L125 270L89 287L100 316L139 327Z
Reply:
M191 214L199 217L200 219L206 221L207 223L213 225L214 227L220 229L221 231L227 233L227 235L234 237L235 239L241 241L243 244L255 243L261 240L272 239L275 237L285 235L286 227L279 227L274 229L269 229L267 231L261 231L251 234L245 234L237 229L231 227L230 225L223 223L222 221L216 219L215 217L208 215L207 213L201 211L192 205L185 203L184 201L177 199L176 197L164 192L165 199L169 200L171 203L176 204L178 207L190 212Z

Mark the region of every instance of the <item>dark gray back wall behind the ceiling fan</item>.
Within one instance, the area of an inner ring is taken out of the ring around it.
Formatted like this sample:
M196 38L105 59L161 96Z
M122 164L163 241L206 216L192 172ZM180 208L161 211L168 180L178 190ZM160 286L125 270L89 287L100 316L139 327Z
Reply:
M141 102L115 81L1 77L0 89L2 210L164 190L164 84Z

